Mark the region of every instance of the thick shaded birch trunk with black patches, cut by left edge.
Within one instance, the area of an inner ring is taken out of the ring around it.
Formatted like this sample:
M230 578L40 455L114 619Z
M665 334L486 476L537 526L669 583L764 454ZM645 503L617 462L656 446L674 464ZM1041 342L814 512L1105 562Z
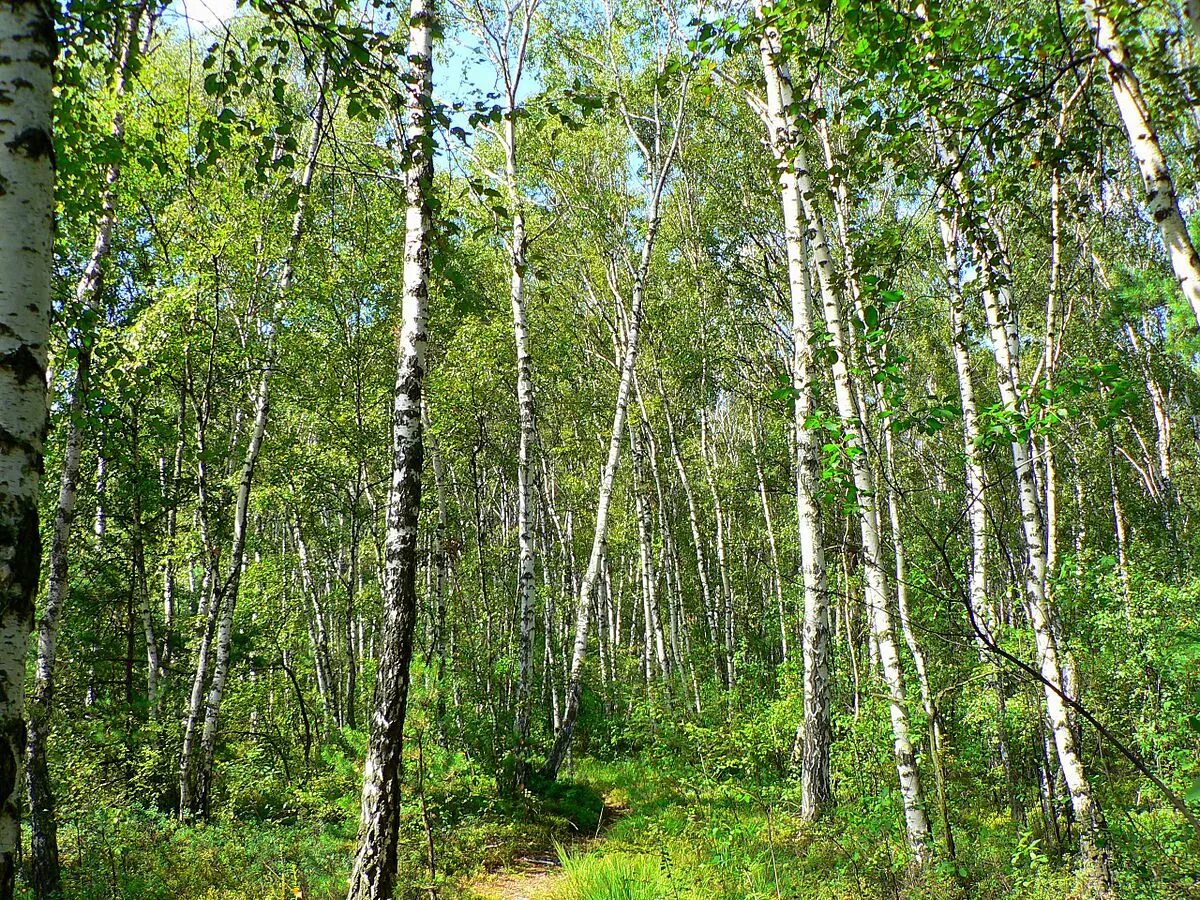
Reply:
M0 4L0 900L13 895L20 850L25 649L42 565L56 10L50 0Z

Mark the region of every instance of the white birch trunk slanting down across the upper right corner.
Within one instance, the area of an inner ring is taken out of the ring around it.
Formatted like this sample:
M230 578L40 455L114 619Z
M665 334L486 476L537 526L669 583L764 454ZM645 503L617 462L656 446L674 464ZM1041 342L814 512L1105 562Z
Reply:
M1112 97L1121 114L1129 148L1138 161L1146 186L1146 212L1158 223L1166 252L1171 258L1171 268L1180 282L1183 299L1192 307L1196 324L1200 325L1200 253L1188 234L1187 222L1180 214L1180 200L1171 180L1171 168L1158 143L1154 124L1150 119L1150 107L1141 92L1141 83L1133 71L1133 60L1126 49L1116 23L1109 14L1105 0L1082 0L1088 14L1092 40L1096 50L1104 60L1104 71L1112 85ZM1192 23L1196 23L1196 4L1188 7Z

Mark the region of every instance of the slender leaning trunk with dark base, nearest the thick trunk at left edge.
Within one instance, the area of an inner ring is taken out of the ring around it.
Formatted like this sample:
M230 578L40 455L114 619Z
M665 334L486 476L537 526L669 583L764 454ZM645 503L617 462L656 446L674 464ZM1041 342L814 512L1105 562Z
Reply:
M138 50L138 31L145 0L136 4L126 19L126 34L121 60L116 70L115 95L120 103L131 76L131 67ZM125 140L124 116L120 108L113 114L110 137L115 146ZM114 160L104 172L104 191L101 197L100 217L91 253L76 286L77 308L85 313L84 320L100 319L103 269L108 260L116 223L116 182L121 175L120 160ZM25 781L29 790L30 824L30 883L37 896L59 893L61 872L59 869L59 839L55 817L54 791L46 758L46 744L50 730L50 709L54 701L54 664L58 650L59 622L68 587L68 558L71 530L74 524L76 496L79 485L79 457L83 450L84 415L91 382L94 335L89 325L80 328L79 347L76 354L74 382L67 402L67 434L59 481L59 499L54 512L54 534L50 539L49 576L46 584L46 608L37 623L37 662L34 671L34 692L29 702L29 734L25 744Z

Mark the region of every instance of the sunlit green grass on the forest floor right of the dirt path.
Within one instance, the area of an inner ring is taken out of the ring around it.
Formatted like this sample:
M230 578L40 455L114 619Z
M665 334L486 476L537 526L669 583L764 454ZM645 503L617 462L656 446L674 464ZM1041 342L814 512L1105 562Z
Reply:
M581 761L576 775L628 812L587 852L564 851L565 877L554 900L1081 896L1069 856L1055 858L1004 816L971 811L984 804L962 804L955 860L942 854L932 866L913 870L886 790L874 805L844 798L835 815L803 824L794 788L786 784L709 780L647 761ZM1193 896L1189 875L1165 864L1144 839L1152 832L1162 841L1170 828L1146 821L1114 829L1121 895Z

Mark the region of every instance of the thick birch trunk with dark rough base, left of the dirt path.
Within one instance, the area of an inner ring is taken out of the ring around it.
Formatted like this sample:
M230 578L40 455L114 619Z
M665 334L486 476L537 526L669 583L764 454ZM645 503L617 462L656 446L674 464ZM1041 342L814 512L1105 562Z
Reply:
M402 324L392 407L392 470L384 548L383 629L371 742L349 900L391 900L400 838L404 714L416 625L418 515L421 508L421 390L428 340L430 196L433 188L433 0L413 0L406 80L406 203Z

